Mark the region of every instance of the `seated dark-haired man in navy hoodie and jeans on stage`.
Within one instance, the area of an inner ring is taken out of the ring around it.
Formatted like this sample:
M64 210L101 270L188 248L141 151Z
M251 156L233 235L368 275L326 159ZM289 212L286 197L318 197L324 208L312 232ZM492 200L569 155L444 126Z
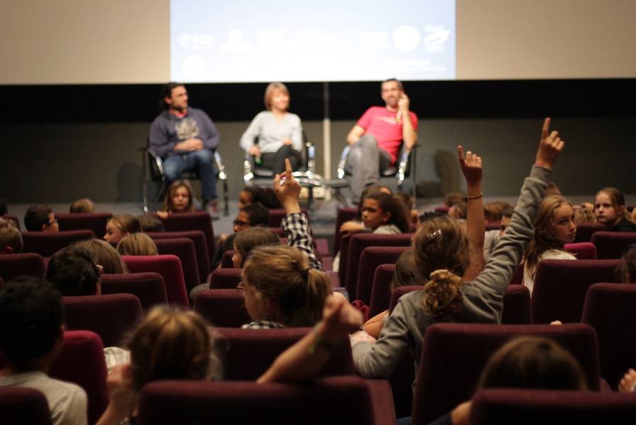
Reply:
M221 136L202 109L188 107L182 84L163 87L164 111L150 126L150 148L163 159L168 186L184 171L195 171L201 180L203 208L216 213L214 149Z

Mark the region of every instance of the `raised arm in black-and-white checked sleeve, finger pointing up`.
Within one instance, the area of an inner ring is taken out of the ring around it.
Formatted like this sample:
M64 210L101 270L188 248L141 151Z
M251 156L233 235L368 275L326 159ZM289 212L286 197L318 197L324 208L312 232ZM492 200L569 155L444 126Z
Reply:
M274 178L274 193L283 208L285 208L285 212L287 212L283 221L280 222L287 237L287 244L290 247L300 249L307 256L309 265L313 269L322 271L322 264L318 261L316 254L314 254L309 222L307 217L300 212L300 204L298 203L300 184L292 174L292 165L289 158L285 158L285 173L278 174Z

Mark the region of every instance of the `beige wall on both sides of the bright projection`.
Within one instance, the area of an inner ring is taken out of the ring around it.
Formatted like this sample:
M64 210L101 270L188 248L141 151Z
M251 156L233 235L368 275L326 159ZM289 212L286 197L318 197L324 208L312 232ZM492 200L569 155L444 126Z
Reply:
M169 0L0 0L0 10L0 84L170 79ZM635 17L635 0L457 0L457 77L636 77Z

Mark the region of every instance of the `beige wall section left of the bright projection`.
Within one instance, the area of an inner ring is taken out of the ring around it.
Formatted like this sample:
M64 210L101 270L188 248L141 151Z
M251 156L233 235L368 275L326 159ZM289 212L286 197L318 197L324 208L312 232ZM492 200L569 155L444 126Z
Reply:
M170 79L169 0L0 0L0 84Z

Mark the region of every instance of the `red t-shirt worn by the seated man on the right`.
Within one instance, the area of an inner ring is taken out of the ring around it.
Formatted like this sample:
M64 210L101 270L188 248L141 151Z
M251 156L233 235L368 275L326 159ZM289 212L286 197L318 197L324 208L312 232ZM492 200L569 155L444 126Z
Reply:
M364 129L365 134L373 134L378 146L387 151L391 156L391 163L397 160L402 144L402 123L397 123L397 112L391 112L386 107L370 107L358 119L358 125ZM417 115L409 111L409 117L413 129L417 131Z

